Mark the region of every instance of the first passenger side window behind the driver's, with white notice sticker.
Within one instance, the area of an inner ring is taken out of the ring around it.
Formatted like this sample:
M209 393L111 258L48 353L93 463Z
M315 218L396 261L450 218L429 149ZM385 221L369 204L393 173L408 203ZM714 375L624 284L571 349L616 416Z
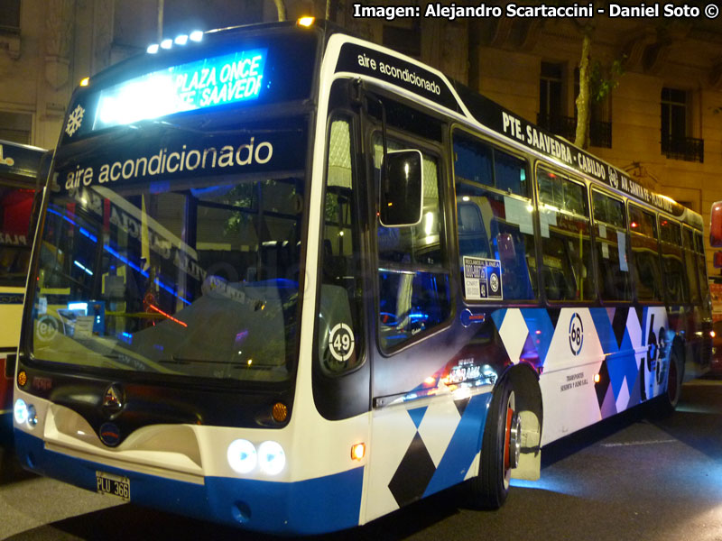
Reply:
M465 297L536 298L533 204L526 163L460 131L454 133L454 156L461 282L466 284L465 257L477 265L498 265L502 279L500 295L494 295L484 283L465 291Z

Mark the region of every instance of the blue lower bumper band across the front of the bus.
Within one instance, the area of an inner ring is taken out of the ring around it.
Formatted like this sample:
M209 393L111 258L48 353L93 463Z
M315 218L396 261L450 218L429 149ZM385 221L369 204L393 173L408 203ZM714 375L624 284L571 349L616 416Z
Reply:
M364 467L296 482L206 477L205 486L108 467L44 448L42 439L15 430L24 467L88 491L96 472L130 480L131 501L203 520L273 534L321 534L358 525Z

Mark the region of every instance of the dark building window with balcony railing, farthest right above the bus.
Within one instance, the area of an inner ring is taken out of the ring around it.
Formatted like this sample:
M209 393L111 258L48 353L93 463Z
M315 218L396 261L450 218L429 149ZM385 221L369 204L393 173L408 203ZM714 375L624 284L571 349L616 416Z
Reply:
M704 161L704 140L688 136L689 96L662 88L662 154L673 160Z

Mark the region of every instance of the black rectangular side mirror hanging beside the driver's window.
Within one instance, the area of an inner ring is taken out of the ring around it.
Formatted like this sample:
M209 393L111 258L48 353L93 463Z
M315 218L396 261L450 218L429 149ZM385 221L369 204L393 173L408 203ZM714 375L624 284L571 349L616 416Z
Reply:
M388 151L381 166L379 221L384 227L421 223L423 160L421 151Z

